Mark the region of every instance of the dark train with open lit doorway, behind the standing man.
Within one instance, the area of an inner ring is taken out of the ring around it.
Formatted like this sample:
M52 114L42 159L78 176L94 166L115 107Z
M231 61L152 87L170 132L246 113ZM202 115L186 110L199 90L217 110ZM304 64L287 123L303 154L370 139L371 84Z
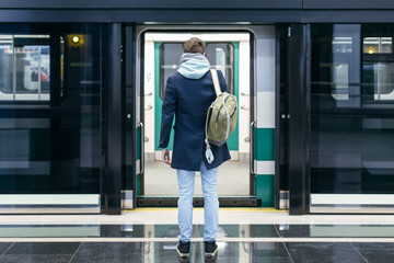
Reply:
M392 214L393 3L0 3L0 213L175 206L161 105L196 36L239 103L221 206Z

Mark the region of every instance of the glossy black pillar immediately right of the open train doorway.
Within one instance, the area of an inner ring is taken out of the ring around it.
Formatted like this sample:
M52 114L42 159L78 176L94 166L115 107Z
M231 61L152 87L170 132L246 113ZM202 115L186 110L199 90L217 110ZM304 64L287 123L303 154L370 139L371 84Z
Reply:
M275 207L304 215L310 209L310 26L278 26L277 47Z

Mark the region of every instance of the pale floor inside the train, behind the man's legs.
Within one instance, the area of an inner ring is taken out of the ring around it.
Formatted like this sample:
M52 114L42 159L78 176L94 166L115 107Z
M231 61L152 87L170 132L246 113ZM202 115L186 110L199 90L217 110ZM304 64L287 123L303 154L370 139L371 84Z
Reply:
M219 168L219 195L248 195L250 168L246 162L228 161ZM147 162L144 168L144 195L177 195L176 170L161 161ZM202 195L201 178L196 172L195 195Z

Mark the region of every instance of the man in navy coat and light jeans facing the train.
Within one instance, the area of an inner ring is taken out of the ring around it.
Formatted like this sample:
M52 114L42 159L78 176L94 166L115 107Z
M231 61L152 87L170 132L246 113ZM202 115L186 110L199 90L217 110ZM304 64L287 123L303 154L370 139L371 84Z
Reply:
M181 259L189 258L195 171L200 171L205 198L205 255L215 259L218 254L216 244L219 220L218 167L230 159L230 152L227 144L221 147L211 146L213 161L208 163L205 157L207 111L216 99L210 64L205 57L206 46L201 39L192 37L183 47L181 67L176 73L169 77L166 82L159 147L162 148L163 162L177 170L181 238L176 252ZM218 77L221 90L228 91L220 71ZM175 136L171 161L166 148L174 115Z

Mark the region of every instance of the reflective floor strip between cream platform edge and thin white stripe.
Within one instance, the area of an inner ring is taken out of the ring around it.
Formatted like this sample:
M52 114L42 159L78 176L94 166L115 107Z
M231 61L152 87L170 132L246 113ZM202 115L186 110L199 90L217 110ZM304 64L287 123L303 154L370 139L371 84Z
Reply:
M192 238L202 238L202 233L204 225L194 225ZM179 229L177 225L0 225L0 238L160 238L176 241ZM394 238L394 226L220 225L218 239L228 238Z

